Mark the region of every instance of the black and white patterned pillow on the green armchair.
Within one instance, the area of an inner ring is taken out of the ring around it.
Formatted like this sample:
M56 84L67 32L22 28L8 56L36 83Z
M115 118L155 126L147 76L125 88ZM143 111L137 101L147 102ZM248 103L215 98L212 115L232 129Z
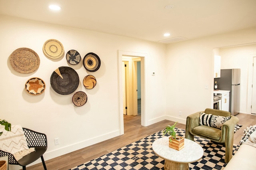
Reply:
M230 116L224 117L224 116L200 113L199 124L221 129L223 123L225 123L229 119L230 119Z

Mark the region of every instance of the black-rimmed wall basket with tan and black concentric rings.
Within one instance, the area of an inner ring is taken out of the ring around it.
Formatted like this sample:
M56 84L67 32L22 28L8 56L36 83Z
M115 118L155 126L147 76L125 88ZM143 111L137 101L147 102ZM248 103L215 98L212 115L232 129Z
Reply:
M88 53L84 56L83 64L87 71L97 71L100 68L100 57L95 53Z

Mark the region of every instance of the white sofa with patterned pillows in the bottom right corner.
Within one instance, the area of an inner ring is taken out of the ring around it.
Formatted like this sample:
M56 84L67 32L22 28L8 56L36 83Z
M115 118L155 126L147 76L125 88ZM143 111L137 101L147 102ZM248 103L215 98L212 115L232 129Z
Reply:
M256 125L244 129L240 144L224 170L256 170Z

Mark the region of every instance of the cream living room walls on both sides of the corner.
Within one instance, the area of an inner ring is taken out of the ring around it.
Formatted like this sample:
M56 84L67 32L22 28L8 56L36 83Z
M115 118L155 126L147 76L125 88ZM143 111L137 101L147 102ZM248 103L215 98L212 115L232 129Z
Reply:
M46 133L46 160L120 134L118 50L148 54L145 58L145 124L164 119L185 123L187 115L212 107L213 49L256 40L256 28L164 45L6 16L0 16L0 24L0 119ZM70 49L78 50L82 56L96 53L102 61L100 69L90 73L82 63L69 65L65 57L49 59L42 51L48 39L59 40L65 53ZM14 71L9 56L20 47L38 53L37 71L29 74ZM74 93L59 95L50 87L50 76L60 66L73 67L78 72L80 84L76 91L84 91L88 96L84 106L73 105ZM152 71L156 73L154 76ZM96 87L91 90L82 85L82 79L88 74L97 79ZM24 83L31 77L45 81L43 94L32 96L24 90ZM204 88L205 84L208 89ZM178 115L179 111L182 116ZM57 137L60 145L55 146Z

